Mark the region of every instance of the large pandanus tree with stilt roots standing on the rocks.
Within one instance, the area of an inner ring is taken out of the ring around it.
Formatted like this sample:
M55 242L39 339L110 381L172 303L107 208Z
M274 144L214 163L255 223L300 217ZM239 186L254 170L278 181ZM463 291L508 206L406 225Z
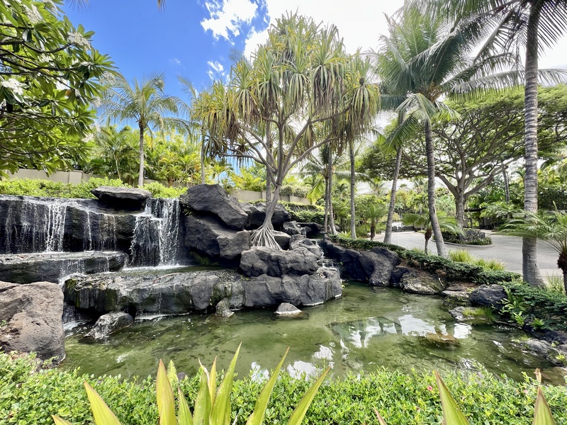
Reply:
M213 154L266 166L273 196L252 236L254 245L279 249L271 217L293 166L337 142L345 115L355 135L374 119L378 87L352 77L358 66L335 26L290 13L271 26L268 41L250 62L240 59L232 66L228 83L216 81L193 104L194 115L210 132Z

